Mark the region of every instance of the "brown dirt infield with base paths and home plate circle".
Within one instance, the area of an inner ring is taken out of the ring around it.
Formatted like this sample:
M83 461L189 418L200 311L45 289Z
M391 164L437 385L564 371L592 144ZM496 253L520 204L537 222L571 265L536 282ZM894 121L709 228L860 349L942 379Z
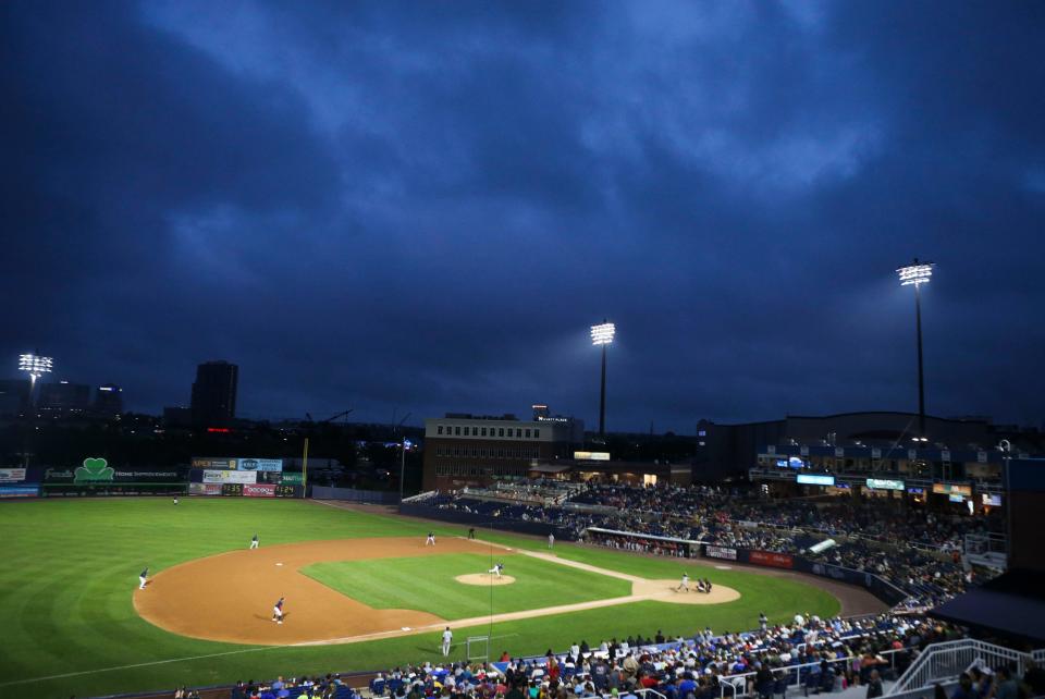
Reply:
M307 541L231 551L158 573L145 590L134 591L134 608L151 624L190 638L259 646L312 646L393 638L439 631L445 626L464 628L640 601L721 604L740 598L736 590L723 586L716 585L711 594L677 592L673 590L678 585L676 580L648 580L553 554L518 550L522 555L628 580L631 594L447 621L415 610L372 609L300 573L300 568L322 561L470 553L477 548L489 551L490 547L511 551L500 544L467 539L443 539L438 547L426 547L417 538ZM491 579L488 573L456 579L483 586L515 581L507 575ZM272 606L280 598L285 598L283 624L274 624Z

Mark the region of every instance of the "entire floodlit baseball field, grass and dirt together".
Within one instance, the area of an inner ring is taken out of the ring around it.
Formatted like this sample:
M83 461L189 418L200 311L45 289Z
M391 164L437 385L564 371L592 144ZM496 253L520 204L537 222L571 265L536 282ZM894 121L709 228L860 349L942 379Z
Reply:
M425 545L434 530L438 543ZM261 547L248 550L257 534ZM795 579L293 500L0 504L0 697L101 696L833 615ZM503 577L488 573L504 565ZM150 582L138 590L148 566ZM684 572L711 594L675 591ZM272 604L285 597L284 623Z

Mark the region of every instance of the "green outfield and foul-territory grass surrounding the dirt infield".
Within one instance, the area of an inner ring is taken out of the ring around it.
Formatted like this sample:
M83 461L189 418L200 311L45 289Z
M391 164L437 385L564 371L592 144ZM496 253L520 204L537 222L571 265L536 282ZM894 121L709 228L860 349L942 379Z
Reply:
M175 636L142 620L132 605L144 566L157 573L242 549L255 532L263 547L317 539L421 538L429 529L440 536L465 534L463 527L290 500L184 498L176 506L164 498L0 503L0 697L89 697L434 660L438 633L348 646L237 646ZM544 548L524 537L492 538L517 548ZM686 568L681 561L602 549L557 544L555 553L648 578L675 578ZM691 575L696 569L690 566ZM692 634L705 626L716 631L749 629L758 625L760 611L784 622L796 612L829 616L839 609L833 597L801 582L710 567L699 572L735 588L741 599L710 606L641 602L492 628L480 625L458 629L455 636L490 634L496 647L491 652L543 653L574 640L593 643L613 636L653 635L659 628L666 634ZM582 575L569 571L567 587Z

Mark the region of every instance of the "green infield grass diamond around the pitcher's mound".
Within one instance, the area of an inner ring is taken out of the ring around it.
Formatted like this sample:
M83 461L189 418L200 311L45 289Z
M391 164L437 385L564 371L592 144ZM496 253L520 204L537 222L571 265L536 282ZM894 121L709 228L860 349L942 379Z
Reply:
M458 575L483 573L503 561L505 586L463 585ZM477 553L315 563L302 572L373 609L431 612L445 620L574 604L631 593L631 584L525 555Z

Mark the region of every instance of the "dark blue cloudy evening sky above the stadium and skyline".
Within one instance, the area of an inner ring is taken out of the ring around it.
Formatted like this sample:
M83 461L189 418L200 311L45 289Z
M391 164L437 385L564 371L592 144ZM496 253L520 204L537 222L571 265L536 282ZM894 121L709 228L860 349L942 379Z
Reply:
M0 4L0 356L128 407L1045 418L1041 2Z

